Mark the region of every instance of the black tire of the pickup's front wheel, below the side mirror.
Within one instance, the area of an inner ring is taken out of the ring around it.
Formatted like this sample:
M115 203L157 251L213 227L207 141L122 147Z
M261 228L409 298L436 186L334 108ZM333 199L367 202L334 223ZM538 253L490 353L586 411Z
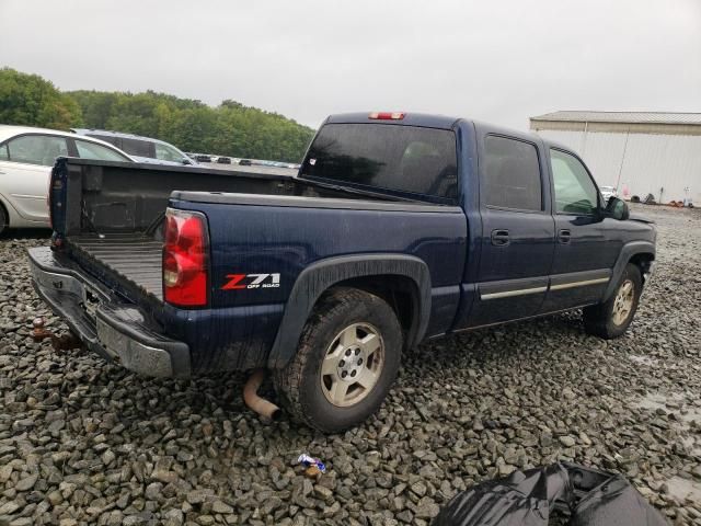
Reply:
M617 309L617 298L622 293L625 284L632 284L632 305L630 311L624 319L618 319L614 310ZM623 270L623 274L616 286L616 290L611 297L602 304L584 308L584 328L589 334L594 334L606 340L612 340L623 335L629 325L633 321L640 296L643 291L643 278L640 268L629 263Z

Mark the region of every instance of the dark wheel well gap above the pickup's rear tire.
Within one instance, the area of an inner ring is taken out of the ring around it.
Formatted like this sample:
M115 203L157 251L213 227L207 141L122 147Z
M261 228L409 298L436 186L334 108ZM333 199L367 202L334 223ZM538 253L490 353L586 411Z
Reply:
M412 278L399 275L363 276L335 283L330 290L335 287L357 288L382 298L394 310L404 330L406 344L411 346L417 343L414 340L421 308L418 288Z

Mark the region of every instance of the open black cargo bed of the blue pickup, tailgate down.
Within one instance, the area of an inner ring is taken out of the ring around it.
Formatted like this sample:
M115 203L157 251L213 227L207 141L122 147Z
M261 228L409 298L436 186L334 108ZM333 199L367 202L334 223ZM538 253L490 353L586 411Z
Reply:
M149 305L163 301L160 229L180 192L397 201L292 176L85 159L59 159L53 184L54 229L65 250L104 284Z

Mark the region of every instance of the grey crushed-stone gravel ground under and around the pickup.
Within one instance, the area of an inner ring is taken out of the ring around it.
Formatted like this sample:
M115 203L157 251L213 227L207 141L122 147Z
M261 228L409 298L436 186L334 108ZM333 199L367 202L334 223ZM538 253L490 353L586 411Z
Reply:
M423 345L381 411L334 436L261 422L239 375L156 380L33 343L36 316L61 328L25 256L47 232L5 236L0 525L421 525L459 490L558 459L625 473L701 525L701 210L634 211L658 222L659 254L624 338L573 313ZM304 478L300 453L327 473Z

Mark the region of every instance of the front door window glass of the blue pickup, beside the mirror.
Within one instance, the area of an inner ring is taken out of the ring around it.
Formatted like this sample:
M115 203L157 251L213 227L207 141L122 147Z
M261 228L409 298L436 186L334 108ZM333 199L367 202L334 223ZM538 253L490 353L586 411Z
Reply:
M550 150L550 163L559 214L594 214L599 205L598 192L584 164L560 150Z

